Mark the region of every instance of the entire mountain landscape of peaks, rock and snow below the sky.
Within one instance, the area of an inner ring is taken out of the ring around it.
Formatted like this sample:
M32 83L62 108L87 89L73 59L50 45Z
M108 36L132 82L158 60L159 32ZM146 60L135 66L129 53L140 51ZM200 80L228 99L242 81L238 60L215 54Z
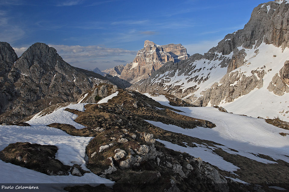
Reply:
M146 40L103 71L0 42L1 185L289 190L288 30L289 1L269 1L204 55Z

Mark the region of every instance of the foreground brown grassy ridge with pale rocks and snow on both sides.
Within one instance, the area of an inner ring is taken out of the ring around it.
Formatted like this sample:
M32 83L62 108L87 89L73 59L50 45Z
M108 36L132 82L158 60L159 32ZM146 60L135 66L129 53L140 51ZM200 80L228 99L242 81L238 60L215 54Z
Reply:
M96 103L93 94L108 96ZM79 104L36 116L26 122L29 127L1 126L0 179L5 183L17 175L19 182L31 183L32 169L34 182L59 183L63 175L61 181L70 182L58 188L71 192L287 189L288 137L278 132L288 130L264 119L190 106L172 95L98 83ZM95 187L111 181L110 188Z

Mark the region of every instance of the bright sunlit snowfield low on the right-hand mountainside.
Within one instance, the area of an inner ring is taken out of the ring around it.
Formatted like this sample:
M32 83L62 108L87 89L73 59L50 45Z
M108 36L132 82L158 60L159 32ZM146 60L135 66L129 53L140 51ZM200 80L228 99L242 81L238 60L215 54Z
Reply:
M256 51L258 49L259 51ZM234 102L222 101L219 106L237 114L271 119L279 117L284 121L289 121L289 92L284 92L284 95L276 95L268 90L273 77L276 74L280 77L279 70L284 66L284 62L289 59L288 47L281 49L272 44L262 43L258 48L245 49L245 52L247 53L246 63L230 74L237 72L239 77L243 75L256 76L256 73L252 74L251 71L257 70L260 73L264 71L263 86L254 88L247 95L235 98ZM256 78L259 79L258 76ZM230 86L240 86L241 79L230 82ZM276 87L276 85L273 86ZM211 105L208 104L208 106Z

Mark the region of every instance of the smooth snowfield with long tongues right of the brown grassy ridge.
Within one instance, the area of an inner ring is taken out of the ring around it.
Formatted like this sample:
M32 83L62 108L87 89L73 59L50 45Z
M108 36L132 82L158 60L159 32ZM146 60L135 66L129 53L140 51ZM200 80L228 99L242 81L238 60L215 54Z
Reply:
M145 95L154 99L160 104L170 106L169 101L163 95L159 95L157 97L153 97L150 94ZM284 130L268 124L264 119L224 113L220 112L214 107L173 108L185 112L178 112L179 114L209 120L215 123L216 127L211 129L203 127L183 129L176 125L166 125L161 122L149 120L147 120L147 122L164 130L182 133L184 135L197 137L202 140L214 141L222 144L223 146L217 145L212 147L204 143L204 145L197 145L197 147L192 148L189 146L182 147L167 141L158 140L170 149L187 152L194 157L199 156L204 161L219 167L221 170L226 170L229 172L234 172L239 168L232 163L225 161L222 157L214 153L212 149L221 148L227 153L241 155L265 164L275 164L276 162L261 158L259 154L268 155L274 160L281 159L289 162L289 157L285 156L289 151L289 138L283 137L279 134L280 132L289 134L289 130Z

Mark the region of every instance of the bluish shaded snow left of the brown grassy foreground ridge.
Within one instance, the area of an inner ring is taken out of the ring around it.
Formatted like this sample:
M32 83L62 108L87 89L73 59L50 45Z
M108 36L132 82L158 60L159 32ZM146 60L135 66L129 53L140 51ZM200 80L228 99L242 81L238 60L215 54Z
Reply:
M0 126L0 150L3 150L10 143L30 142L41 145L55 145L58 148L56 159L65 165L81 165L83 170L88 170L85 166L85 146L93 137L71 136L60 129L47 127L50 123L64 123L75 126L77 129L84 128L73 120L77 115L65 111L65 108L84 110L85 104L74 104L58 110L46 116L31 119L27 123L31 127L22 127L16 125ZM109 179L103 179L94 173L85 173L84 176L48 176L37 171L26 169L11 163L0 161L2 183L61 183L57 185L60 189L69 186L69 183L95 183L96 185L104 183L112 185ZM60 189L51 188L51 191Z

